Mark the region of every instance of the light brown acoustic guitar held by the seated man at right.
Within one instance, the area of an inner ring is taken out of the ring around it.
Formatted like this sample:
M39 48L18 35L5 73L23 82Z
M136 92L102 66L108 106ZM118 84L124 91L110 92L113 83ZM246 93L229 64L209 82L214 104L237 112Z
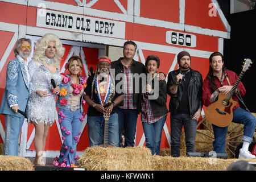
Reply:
M232 99L233 94L236 92L236 88L241 81L243 74L250 67L252 61L250 59L245 59L243 64L243 69L234 83L233 88L228 94L218 94L218 100L213 102L205 109L205 118L213 125L219 127L229 126L233 119L233 107L236 106L237 102Z

